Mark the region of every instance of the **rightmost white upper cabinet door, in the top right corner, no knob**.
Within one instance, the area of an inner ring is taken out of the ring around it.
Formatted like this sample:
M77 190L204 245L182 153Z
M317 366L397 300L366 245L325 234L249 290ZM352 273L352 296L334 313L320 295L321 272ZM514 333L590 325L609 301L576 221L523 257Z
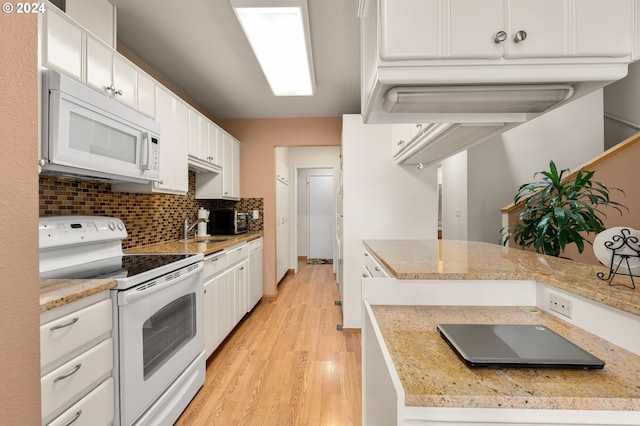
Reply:
M633 2L631 0L576 1L575 25L577 56L623 57L631 53L633 41Z

